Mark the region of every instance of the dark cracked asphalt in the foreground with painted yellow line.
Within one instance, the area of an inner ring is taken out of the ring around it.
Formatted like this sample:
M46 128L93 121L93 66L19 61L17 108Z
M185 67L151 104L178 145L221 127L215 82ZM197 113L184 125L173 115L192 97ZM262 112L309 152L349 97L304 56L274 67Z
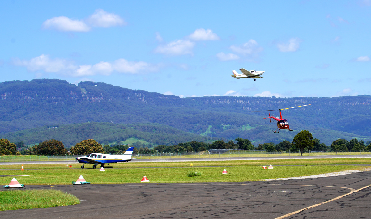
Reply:
M371 218L371 171L264 182L35 185L22 189L45 188L71 193L81 204L2 211L0 218Z

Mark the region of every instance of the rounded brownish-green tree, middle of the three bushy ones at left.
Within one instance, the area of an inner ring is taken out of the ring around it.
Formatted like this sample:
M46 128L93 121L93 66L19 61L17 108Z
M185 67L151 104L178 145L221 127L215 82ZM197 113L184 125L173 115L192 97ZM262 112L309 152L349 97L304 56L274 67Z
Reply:
M63 143L55 139L41 142L39 145L33 146L32 150L32 153L37 155L66 155L68 153Z

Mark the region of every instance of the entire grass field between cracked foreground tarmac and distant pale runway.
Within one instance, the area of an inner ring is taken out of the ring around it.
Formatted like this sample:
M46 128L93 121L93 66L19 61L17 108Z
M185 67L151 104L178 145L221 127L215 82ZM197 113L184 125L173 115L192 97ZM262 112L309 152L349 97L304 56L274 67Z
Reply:
M190 166L190 164L193 166ZM364 159L310 159L310 160L238 160L209 162L161 162L161 163L118 163L106 165L105 172L97 169L81 169L81 164L66 165L1 165L1 175L30 175L16 177L24 185L68 185L82 175L92 184L140 183L145 175L152 183L182 182L244 182L275 179L282 177L308 176L342 170L365 169L368 166L352 164L370 164L370 158ZM262 166L272 164L275 168L263 170ZM329 164L348 164L334 166ZM288 166L277 166L288 165ZM309 165L309 166L293 166ZM312 166L321 165L321 166ZM371 165L370 165L371 166ZM16 167L16 168L14 168ZM125 168L127 167L127 168ZM149 168L146 168L149 167ZM186 168L185 168L186 167ZM5 169L7 168L7 169ZM221 174L227 169L228 174ZM190 171L201 171L202 177L187 177ZM0 177L0 185L9 184L12 177Z

